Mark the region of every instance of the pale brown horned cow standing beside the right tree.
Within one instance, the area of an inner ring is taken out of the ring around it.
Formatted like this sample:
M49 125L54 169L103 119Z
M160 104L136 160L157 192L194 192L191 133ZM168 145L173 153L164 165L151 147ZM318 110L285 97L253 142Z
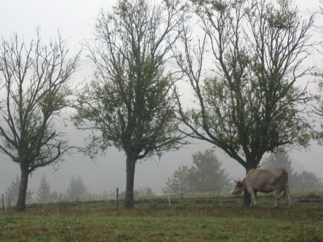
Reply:
M248 191L251 195L250 206L256 206L256 194L275 192L276 208L281 198L281 192L284 191L283 200L287 195L288 205L291 206L291 194L288 188L288 173L284 168L276 168L271 170L251 169L242 181L236 181L231 194L236 195L243 191Z

